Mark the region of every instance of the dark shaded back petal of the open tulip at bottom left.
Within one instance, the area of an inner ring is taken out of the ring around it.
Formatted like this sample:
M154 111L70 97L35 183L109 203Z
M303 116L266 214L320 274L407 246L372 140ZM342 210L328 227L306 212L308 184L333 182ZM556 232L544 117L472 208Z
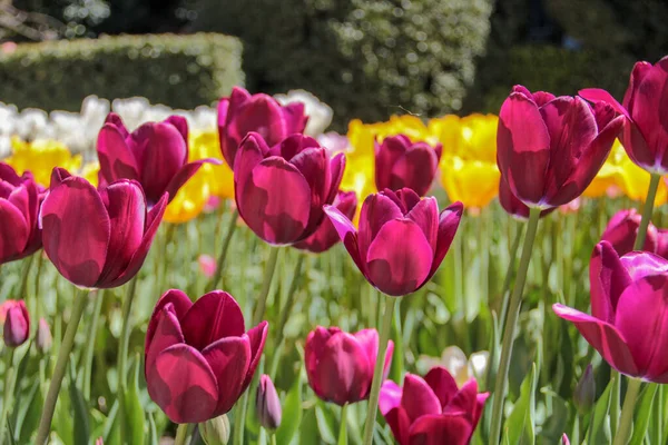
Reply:
M195 301L181 319L181 328L186 343L198 350L220 338L240 337L246 332L242 308L222 290L210 291Z

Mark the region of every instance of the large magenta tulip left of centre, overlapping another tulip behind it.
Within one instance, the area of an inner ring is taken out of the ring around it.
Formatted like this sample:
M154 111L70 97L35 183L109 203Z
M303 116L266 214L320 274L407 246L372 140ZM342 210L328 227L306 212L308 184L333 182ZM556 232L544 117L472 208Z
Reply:
M323 221L345 168L343 154L330 158L313 138L292 135L269 147L250 132L234 168L234 195L240 217L262 239L291 245L310 237Z

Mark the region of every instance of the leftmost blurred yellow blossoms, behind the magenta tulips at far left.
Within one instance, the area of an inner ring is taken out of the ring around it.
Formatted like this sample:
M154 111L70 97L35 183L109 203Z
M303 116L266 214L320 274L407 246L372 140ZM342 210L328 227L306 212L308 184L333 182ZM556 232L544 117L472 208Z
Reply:
M4 160L13 167L19 175L26 170L32 171L37 184L49 187L53 167L62 167L76 172L81 168L81 156L73 155L59 141L50 139L36 139L24 141L18 136L11 138L12 155Z

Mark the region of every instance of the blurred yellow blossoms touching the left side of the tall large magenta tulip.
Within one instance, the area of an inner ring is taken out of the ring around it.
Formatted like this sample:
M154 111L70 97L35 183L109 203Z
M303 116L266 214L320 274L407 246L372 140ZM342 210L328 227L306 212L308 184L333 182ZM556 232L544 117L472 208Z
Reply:
M452 201L480 209L499 194L494 115L446 115L429 121L429 130L443 145L441 184Z

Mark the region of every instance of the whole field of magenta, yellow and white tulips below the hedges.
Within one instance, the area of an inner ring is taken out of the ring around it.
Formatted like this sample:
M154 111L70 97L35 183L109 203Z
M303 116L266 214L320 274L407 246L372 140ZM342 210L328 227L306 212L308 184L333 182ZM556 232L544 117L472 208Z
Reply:
M347 134L240 87L2 115L0 445L668 443L668 58L629 70Z

